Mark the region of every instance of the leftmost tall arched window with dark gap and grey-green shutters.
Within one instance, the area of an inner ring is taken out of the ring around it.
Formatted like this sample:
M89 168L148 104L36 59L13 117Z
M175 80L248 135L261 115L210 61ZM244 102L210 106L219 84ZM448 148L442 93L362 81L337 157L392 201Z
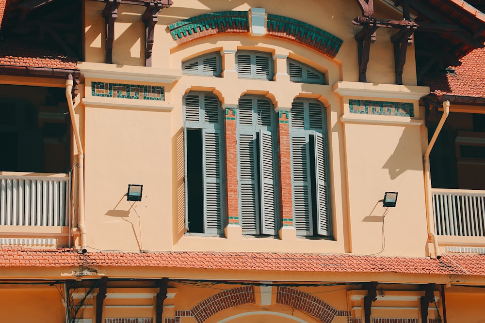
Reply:
M183 98L185 124L186 228L195 233L222 233L223 113L212 93L190 92Z

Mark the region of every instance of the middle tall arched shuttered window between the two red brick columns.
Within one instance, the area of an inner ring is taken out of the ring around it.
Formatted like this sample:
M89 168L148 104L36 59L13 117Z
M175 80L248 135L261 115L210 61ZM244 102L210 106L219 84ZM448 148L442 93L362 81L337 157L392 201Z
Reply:
M277 163L275 110L263 96L239 100L238 137L239 212L244 234L277 232Z

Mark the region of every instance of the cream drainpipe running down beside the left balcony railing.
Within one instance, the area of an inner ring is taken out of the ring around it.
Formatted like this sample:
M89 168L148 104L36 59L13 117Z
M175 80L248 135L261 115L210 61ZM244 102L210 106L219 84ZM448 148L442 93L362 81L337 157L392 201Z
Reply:
M72 129L74 131L74 138L76 139L76 146L78 148L78 186L79 186L79 220L78 228L81 234L81 252L86 253L86 227L84 226L84 152L81 145L81 137L79 135L78 124L74 114L74 103L72 102L72 75L69 74L68 79L65 80L65 97L67 98L67 105L69 106L69 114L71 116Z

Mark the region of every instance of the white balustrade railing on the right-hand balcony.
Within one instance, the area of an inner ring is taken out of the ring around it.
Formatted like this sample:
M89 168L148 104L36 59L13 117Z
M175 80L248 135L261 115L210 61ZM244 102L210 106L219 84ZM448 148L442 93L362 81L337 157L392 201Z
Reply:
M438 235L485 236L485 191L433 188Z

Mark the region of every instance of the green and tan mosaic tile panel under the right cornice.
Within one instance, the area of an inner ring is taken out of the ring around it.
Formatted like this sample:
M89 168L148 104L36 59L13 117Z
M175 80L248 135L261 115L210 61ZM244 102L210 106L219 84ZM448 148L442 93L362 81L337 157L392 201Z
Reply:
M414 117L414 104L390 101L349 100L350 113Z

